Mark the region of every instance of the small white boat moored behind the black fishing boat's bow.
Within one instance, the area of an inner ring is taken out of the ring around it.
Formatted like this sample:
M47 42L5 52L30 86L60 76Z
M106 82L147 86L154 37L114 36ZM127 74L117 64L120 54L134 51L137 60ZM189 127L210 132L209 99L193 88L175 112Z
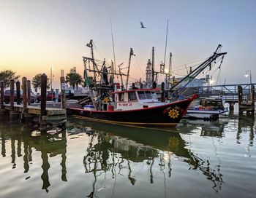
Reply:
M185 114L185 118L192 119L219 119L220 114L228 112L228 108L224 107L221 98L200 98L194 100Z

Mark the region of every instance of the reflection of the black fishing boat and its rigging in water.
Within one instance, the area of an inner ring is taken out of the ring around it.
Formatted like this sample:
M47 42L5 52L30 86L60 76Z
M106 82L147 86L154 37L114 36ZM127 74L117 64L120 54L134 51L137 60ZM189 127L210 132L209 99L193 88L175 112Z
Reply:
M189 170L200 170L200 173L206 175L206 178L213 183L214 191L221 189L223 179L220 167L217 169L211 167L207 159L204 160L190 152L177 129L125 127L77 119L72 123L72 128L89 131L90 134L93 131L91 144L83 159L86 173L94 174L93 191L89 197L95 193L95 183L99 175L97 172L110 171L113 178L116 178L116 174L128 167L127 178L132 185L135 185L136 178L132 177L135 173L132 173L130 164L140 162L148 166L148 181L154 183L154 175L157 174L154 173L156 166L163 173L165 173L163 170L168 170L164 178L171 177L171 159L186 162ZM97 143L94 143L95 138Z

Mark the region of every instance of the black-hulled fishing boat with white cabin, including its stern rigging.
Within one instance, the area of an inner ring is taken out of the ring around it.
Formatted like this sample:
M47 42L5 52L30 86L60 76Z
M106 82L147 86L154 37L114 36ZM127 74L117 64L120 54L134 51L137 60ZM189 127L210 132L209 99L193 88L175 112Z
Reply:
M159 89L156 87L138 89L132 86L129 89L129 68L134 56L132 48L129 52L129 65L126 67L127 74L124 74L122 71L125 68L119 65L117 70L113 62L111 66L107 66L105 60L97 64L99 61L94 59L92 40L86 46L91 48L91 58L83 57L84 78L91 93L90 97L79 102L80 108L67 108L67 112L76 118L110 124L175 127L186 114L192 100L197 98L197 95L192 95L185 100L164 103L158 100ZM121 86L114 83L115 76L121 79ZM127 77L125 84L123 76Z

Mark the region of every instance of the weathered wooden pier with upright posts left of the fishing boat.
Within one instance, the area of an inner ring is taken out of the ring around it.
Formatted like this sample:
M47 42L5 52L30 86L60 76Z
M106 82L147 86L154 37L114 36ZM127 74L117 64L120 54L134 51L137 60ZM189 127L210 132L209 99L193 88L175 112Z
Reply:
M61 79L61 82L63 78ZM42 74L41 76L41 95L40 103L38 106L31 104L31 82L23 77L22 79L22 101L20 100L20 82L10 81L10 103L4 103L4 82L1 82L1 114L9 114L10 119L19 117L21 122L27 120L36 122L40 125L40 130L45 131L49 127L59 126L62 129L66 128L67 112L65 105L61 105L61 108L49 108L46 107L46 89L47 88L47 76ZM15 92L16 91L16 92ZM64 90L61 90L63 93ZM61 104L65 104L65 98L61 95ZM37 102L37 98L35 100Z

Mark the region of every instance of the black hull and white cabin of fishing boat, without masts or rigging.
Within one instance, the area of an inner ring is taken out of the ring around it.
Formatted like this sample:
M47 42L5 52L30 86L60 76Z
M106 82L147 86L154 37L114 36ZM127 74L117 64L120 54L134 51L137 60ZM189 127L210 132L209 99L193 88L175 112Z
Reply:
M175 127L187 112L192 95L185 100L162 103L155 89L134 89L116 91L115 102L86 105L83 108L69 108L68 112L80 119L125 125L157 125ZM101 110L99 110L101 109Z

